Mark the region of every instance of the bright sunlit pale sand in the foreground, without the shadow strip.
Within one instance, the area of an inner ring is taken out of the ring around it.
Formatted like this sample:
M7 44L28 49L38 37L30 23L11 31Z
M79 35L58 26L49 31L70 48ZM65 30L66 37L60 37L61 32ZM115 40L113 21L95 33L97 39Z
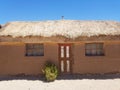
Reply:
M0 81L0 90L120 90L120 79L8 80Z

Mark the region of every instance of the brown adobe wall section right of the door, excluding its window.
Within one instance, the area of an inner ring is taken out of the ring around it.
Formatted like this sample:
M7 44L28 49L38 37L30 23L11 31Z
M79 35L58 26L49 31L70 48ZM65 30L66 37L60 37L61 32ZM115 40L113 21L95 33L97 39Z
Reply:
M105 56L85 56L85 43L74 44L73 73L120 72L120 42L104 42Z

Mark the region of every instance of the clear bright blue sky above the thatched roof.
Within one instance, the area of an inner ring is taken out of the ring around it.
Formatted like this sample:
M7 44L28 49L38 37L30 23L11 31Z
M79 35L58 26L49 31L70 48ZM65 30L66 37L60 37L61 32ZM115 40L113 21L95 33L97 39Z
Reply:
M43 20L120 21L120 0L0 0L0 24Z

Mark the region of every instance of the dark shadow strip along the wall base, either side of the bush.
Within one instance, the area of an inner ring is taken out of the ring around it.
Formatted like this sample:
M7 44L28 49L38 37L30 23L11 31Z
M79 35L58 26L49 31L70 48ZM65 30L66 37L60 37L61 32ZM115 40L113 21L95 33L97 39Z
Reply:
M118 79L120 78L119 74L104 74L104 75L92 75L92 74L86 74L86 75L59 75L57 80L77 80L77 79ZM9 81L9 80L41 80L45 81L44 76L33 76L33 75L16 75L16 76L0 76L0 81Z

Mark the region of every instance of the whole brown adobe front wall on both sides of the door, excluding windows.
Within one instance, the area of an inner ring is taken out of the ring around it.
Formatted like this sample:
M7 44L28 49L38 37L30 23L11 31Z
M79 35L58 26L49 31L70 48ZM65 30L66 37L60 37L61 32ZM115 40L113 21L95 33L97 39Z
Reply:
M104 42L105 56L85 56L85 43L74 43L73 73L111 73L120 72L120 42ZM0 75L38 75L46 61L59 66L58 44L44 43L44 56L25 56L24 43L0 43Z

